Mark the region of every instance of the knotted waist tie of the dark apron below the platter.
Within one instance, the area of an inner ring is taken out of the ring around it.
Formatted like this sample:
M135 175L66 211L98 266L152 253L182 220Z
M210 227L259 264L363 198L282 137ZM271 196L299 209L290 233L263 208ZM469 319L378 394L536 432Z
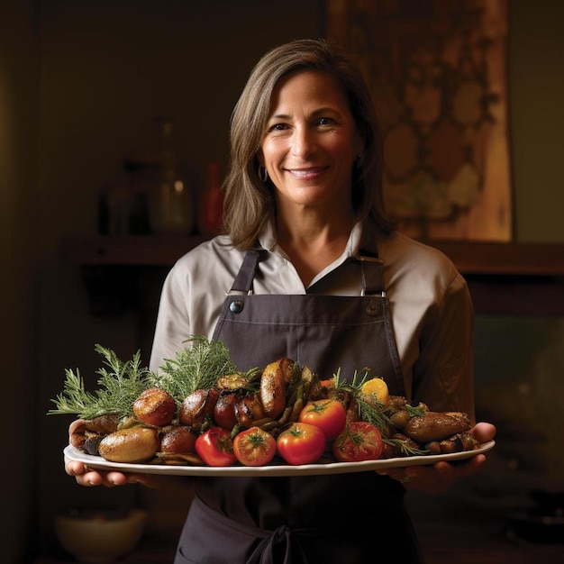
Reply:
M279 556L284 554L283 564L307 562L307 557L299 541L300 537L334 537L340 530L339 525L326 525L320 527L289 527L287 524L278 526L274 531L260 529L251 524L241 523L212 509L196 496L192 505L197 505L198 510L208 514L218 525L235 529L250 537L260 539L259 544L250 554L245 564L278 564ZM276 559L275 559L276 555Z

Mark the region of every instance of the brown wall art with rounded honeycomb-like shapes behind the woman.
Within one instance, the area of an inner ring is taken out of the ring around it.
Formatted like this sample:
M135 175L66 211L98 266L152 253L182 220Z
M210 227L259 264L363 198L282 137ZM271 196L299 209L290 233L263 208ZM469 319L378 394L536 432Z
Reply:
M511 241L507 0L326 0L384 136L384 191L421 240Z

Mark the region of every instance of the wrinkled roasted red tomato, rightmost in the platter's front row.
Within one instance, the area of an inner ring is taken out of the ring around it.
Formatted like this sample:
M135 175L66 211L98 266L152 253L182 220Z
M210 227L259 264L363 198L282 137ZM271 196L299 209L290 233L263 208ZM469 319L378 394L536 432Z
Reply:
M351 421L332 444L335 459L341 462L376 460L382 454L382 434L368 421Z

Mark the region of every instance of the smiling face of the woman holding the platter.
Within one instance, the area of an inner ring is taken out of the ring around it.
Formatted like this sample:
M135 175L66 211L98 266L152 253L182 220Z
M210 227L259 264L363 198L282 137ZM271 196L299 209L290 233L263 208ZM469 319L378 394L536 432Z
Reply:
M350 212L352 166L361 150L347 99L332 76L307 70L277 84L259 162L277 187L281 210Z

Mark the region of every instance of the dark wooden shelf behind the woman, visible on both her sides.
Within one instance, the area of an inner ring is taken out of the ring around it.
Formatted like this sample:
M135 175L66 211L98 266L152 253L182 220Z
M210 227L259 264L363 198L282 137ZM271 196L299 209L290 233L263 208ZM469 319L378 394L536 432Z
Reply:
M62 241L63 256L79 265L93 314L152 307L141 277L158 286L177 259L205 236L86 235ZM431 241L468 281L478 314L564 314L564 243ZM142 285L141 285L142 286Z

